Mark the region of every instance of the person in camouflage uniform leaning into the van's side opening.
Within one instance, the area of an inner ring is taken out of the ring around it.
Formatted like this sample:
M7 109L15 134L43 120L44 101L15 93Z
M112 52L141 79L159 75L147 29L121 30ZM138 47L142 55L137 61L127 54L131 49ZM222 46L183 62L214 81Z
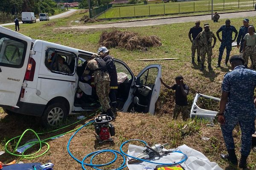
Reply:
M96 94L99 97L99 102L103 110L102 114L107 114L108 116L111 116L112 119L116 119L116 116L111 110L108 100L108 94L110 91L110 78L106 63L96 54L93 54L92 57L93 59L88 61L87 67L93 71Z

